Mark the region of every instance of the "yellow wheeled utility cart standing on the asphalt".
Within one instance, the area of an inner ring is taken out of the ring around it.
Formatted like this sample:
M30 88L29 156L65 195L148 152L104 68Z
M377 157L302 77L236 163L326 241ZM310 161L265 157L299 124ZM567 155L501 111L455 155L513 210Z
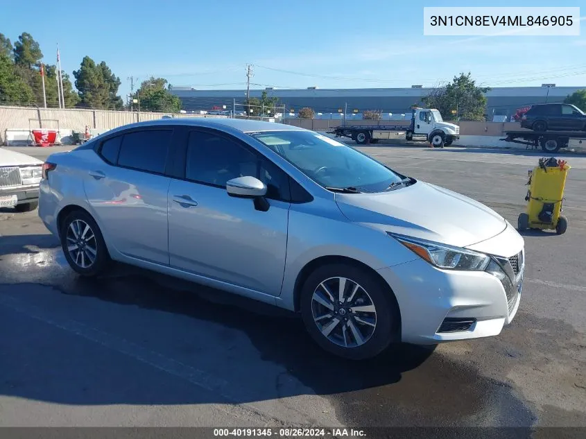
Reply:
M566 232L568 220L560 212L569 169L565 160L543 157L529 171L529 189L525 197L527 209L519 215L519 230L555 229L557 234Z

